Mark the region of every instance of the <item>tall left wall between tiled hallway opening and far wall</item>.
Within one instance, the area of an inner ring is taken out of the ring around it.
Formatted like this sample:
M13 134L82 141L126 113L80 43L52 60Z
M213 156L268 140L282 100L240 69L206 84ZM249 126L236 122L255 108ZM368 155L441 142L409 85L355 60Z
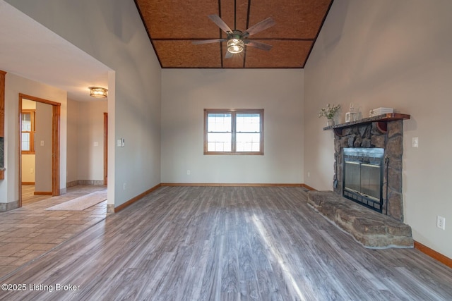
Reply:
M134 2L7 2L114 70L109 77L109 204L117 207L159 184L161 69ZM126 146L114 148L121 137Z

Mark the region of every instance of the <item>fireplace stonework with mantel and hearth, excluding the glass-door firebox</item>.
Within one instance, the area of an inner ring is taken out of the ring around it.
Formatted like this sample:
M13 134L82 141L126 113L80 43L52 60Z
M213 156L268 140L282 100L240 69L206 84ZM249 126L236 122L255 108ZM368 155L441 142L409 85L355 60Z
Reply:
M323 128L334 131L333 191L309 191L307 202L365 247L413 246L411 227L403 223L402 193L403 119L409 118L390 113ZM382 213L343 197L345 147L385 149Z

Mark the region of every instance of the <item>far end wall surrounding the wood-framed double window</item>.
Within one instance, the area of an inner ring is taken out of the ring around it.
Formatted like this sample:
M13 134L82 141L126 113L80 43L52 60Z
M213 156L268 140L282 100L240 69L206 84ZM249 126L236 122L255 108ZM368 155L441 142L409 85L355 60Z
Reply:
M162 183L302 183L302 83L295 69L162 70ZM203 109L264 109L264 155L204 155Z

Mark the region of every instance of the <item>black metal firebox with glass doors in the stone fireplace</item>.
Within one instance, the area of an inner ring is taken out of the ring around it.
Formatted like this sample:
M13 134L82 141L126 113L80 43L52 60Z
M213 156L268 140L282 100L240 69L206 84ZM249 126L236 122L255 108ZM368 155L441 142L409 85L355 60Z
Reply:
M381 213L383 161L383 148L343 148L343 197Z

